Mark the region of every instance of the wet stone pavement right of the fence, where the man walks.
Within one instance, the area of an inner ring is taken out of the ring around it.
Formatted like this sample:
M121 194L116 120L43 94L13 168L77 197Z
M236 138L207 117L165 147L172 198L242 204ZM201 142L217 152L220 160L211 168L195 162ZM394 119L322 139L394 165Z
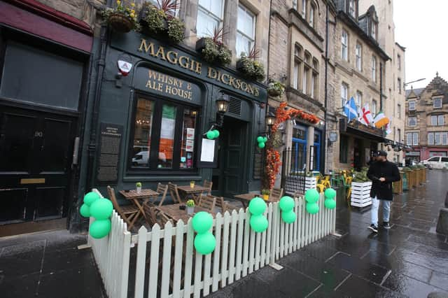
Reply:
M279 260L280 271L264 267L209 297L448 295L447 236L435 233L447 176L428 171L426 185L395 195L390 230L372 234L370 211L338 207L336 229L342 237L311 243Z

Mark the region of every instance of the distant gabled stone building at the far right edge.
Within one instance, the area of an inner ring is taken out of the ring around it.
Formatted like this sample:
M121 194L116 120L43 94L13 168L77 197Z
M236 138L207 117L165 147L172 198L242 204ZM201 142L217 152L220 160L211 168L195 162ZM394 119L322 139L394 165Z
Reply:
M448 156L448 83L437 73L424 88L406 90L406 157Z

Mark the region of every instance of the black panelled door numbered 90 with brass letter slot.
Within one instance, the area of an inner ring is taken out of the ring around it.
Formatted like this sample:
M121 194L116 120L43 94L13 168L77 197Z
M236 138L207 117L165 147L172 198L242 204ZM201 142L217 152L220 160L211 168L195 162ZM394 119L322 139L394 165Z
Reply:
M75 119L0 111L0 225L66 217Z

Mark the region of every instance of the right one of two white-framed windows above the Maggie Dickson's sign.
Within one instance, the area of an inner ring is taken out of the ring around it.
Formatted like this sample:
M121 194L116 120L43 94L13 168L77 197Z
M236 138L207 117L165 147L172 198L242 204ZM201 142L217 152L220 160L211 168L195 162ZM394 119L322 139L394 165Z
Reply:
M255 43L255 15L241 4L238 6L237 55L248 55Z

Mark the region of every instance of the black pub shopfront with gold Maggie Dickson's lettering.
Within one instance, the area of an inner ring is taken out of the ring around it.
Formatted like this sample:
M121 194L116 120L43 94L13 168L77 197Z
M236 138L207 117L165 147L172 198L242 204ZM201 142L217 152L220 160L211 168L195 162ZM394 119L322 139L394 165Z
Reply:
M127 76L118 74L119 60L132 64ZM212 180L214 194L225 197L260 190L264 85L135 32L111 35L105 65L92 186L106 194L106 185ZM219 127L222 97L230 102ZM212 125L220 136L211 141L204 134Z

